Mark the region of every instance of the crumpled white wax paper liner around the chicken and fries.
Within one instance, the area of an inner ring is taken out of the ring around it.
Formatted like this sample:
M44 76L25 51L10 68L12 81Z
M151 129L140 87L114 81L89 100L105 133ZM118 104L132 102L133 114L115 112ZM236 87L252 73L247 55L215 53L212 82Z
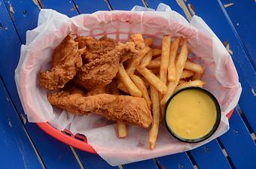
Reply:
M206 68L203 76L205 88L221 104L218 131L208 140L189 144L175 140L161 124L156 147L150 150L149 128L129 125L128 137L119 139L114 122L93 114L74 116L53 108L47 101L47 90L38 88L37 74L49 69L53 49L69 32L97 38L108 35L117 41L126 41L130 35L140 32L155 38L155 47L160 47L160 40L166 34L187 38L189 50L194 53L192 59ZM163 4L157 11L136 6L133 11L98 11L72 18L56 11L41 10L37 28L26 33L26 45L21 47L15 81L29 122L50 122L59 130L67 128L73 134L85 134L88 143L111 165L184 152L224 134L229 128L226 115L236 106L242 91L229 53L209 26L197 16L188 23Z

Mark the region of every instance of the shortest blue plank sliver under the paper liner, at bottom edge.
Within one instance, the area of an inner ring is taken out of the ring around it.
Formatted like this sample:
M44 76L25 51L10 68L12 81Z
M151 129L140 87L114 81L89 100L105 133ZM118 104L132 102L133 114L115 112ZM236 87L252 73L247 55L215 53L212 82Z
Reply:
M123 165L123 169L145 169L145 168L158 169L157 164L153 159Z

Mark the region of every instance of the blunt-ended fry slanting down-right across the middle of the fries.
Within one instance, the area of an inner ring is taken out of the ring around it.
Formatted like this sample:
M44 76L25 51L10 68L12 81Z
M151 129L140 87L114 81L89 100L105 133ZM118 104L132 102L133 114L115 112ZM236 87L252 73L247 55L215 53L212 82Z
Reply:
M155 74L149 71L148 68L137 68L137 71L139 71L139 73L148 80L148 83L151 83L159 92L162 94L166 93L167 86Z

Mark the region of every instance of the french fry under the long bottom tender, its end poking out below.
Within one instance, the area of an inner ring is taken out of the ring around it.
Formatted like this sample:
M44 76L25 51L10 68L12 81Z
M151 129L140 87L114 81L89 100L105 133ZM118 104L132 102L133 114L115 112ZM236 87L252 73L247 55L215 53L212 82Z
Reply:
M113 80L111 83L111 92L114 95L120 95L120 92L117 89L117 83L115 80ZM121 119L117 120L117 136L120 138L124 138L127 136L126 124Z

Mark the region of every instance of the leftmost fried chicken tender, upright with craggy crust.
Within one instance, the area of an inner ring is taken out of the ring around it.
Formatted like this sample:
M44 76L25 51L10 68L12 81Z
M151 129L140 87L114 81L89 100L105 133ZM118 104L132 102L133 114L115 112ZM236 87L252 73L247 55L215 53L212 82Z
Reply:
M81 68L81 54L84 51L85 47L78 49L78 42L75 42L72 33L69 33L55 48L50 71L38 74L39 86L50 90L63 88L75 77L77 68Z

